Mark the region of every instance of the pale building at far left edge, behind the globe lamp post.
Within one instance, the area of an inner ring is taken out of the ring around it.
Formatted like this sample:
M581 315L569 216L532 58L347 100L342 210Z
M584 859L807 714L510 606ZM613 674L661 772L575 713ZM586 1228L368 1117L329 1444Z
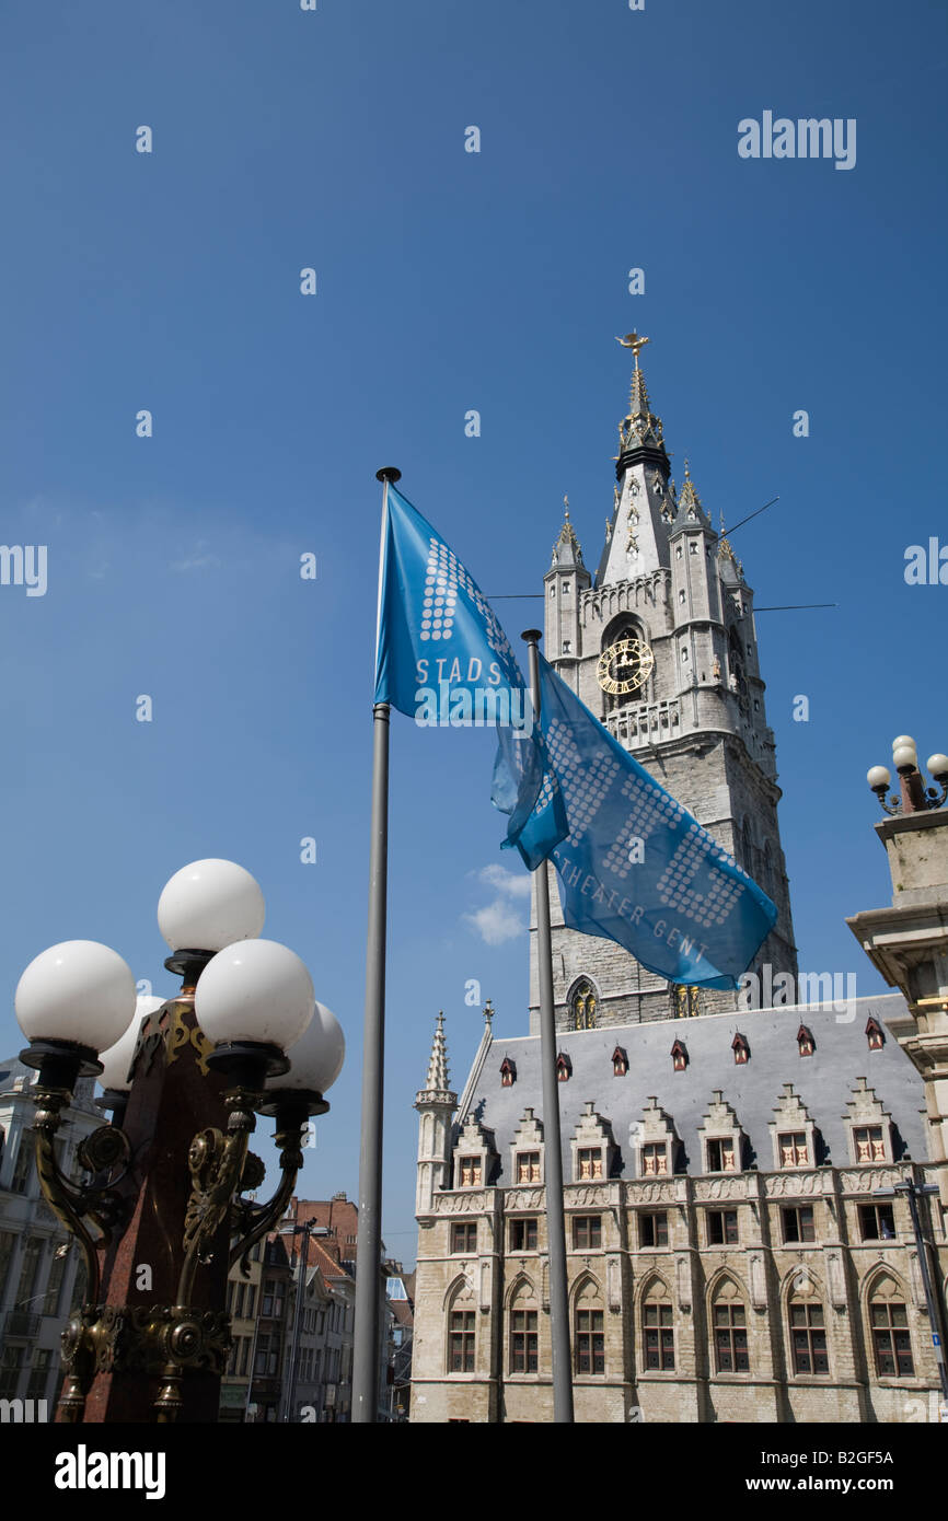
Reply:
M62 1380L59 1337L82 1302L85 1262L40 1192L30 1088L37 1072L0 1062L0 1399L46 1399L50 1419ZM103 1116L94 1080L79 1078L56 1138L59 1167L79 1176L76 1151Z

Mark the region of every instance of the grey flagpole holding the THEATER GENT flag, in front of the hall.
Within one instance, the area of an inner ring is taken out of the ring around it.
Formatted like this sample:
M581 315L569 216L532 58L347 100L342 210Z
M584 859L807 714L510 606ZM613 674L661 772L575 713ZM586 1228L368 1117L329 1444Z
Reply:
M520 636L530 646L533 721L540 721L539 628ZM543 1142L546 1182L546 1243L549 1252L549 1335L552 1343L552 1419L569 1424L572 1415L572 1358L569 1352L569 1282L566 1278L566 1221L563 1215L563 1150L560 1144L560 1084L557 1030L552 1002L552 937L549 931L549 878L546 861L533 873L537 890L537 966L540 972L540 1066L543 1069Z

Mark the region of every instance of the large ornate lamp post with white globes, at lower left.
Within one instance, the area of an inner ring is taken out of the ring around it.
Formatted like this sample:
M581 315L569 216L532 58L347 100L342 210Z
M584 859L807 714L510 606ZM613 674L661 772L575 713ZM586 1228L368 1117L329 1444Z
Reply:
M342 1031L303 961L260 940L263 896L231 861L196 861L161 893L158 925L181 976L135 1005L122 958L88 940L52 946L17 987L38 1068L37 1170L79 1240L87 1303L64 1332L59 1421L216 1421L230 1349L228 1267L286 1211L301 1132L342 1068ZM81 1074L100 1074L111 1124L79 1151L87 1180L58 1167L55 1136ZM263 1162L254 1115L275 1119L282 1180L251 1203ZM93 1229L94 1227L94 1229Z

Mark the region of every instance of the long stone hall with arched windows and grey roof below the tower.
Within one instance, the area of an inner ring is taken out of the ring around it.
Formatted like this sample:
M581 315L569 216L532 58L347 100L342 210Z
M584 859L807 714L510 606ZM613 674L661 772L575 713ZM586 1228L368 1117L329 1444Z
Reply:
M743 1063L733 1018L695 1019L677 1071L677 1021L621 1030L625 1071L615 1030L574 1033L560 1098L577 1421L936 1418L908 1203L875 1196L936 1171L921 1081L895 1040L866 1036L901 1011L886 996L851 1024L744 1013ZM490 1037L447 1186L418 1214L415 1422L552 1419L539 1060L534 1037ZM943 1294L948 1246L930 1229Z

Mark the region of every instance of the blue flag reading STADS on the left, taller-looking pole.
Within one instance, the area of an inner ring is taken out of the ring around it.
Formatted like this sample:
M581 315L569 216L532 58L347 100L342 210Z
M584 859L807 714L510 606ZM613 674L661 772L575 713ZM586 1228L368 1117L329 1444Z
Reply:
M423 729L496 726L491 799L510 814L508 837L516 835L549 770L526 683L496 613L455 552L393 485L387 500L374 700ZM539 865L565 835L565 814L554 811L520 853Z

